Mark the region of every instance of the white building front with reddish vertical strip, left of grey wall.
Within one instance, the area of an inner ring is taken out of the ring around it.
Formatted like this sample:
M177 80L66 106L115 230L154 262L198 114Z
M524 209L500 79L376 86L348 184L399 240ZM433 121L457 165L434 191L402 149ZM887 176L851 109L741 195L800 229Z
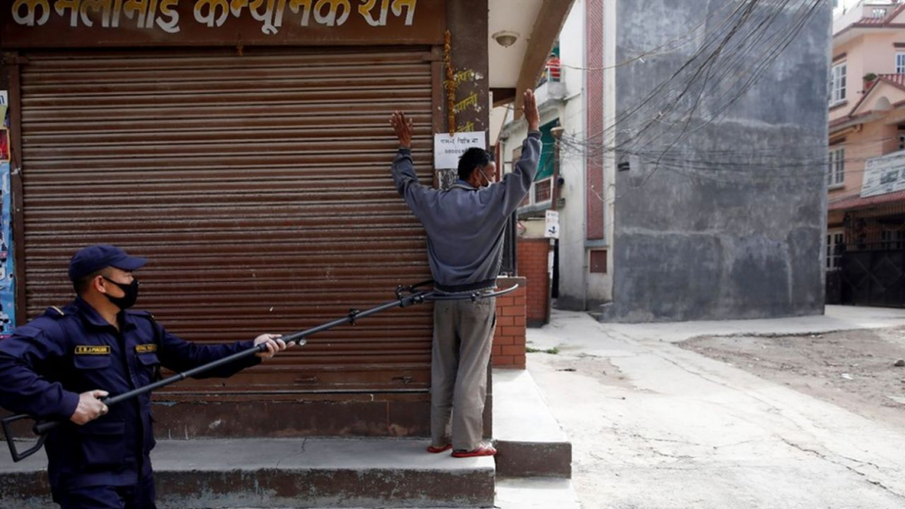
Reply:
M613 175L605 176L603 154L587 150L603 141L603 38L603 2L577 0L554 47L558 80L545 77L538 84L544 155L529 198L519 208L519 238L532 242L545 238L546 212L559 214L559 238L551 240L545 269L550 272L547 293L564 309L586 310L612 300L606 239L613 224L607 222L605 182ZM509 171L528 126L507 109L500 117L500 158Z

